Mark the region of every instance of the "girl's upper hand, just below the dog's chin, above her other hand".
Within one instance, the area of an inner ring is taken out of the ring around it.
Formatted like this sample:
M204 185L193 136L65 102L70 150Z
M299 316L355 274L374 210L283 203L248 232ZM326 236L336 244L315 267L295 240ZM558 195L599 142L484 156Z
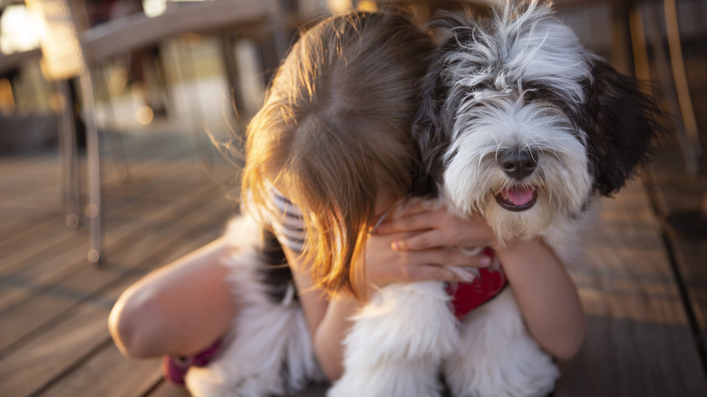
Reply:
M433 200L410 200L396 208L375 232L382 235L399 233L392 241L392 247L400 251L434 247L497 247L496 237L486 219L455 218L446 207ZM408 232L407 236L403 236L403 232Z

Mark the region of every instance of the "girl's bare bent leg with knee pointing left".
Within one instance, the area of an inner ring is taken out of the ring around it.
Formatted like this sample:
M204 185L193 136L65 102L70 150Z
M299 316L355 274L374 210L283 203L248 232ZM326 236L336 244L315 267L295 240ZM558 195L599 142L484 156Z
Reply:
M219 238L126 289L108 320L121 352L191 355L218 341L237 311L223 265L228 250Z

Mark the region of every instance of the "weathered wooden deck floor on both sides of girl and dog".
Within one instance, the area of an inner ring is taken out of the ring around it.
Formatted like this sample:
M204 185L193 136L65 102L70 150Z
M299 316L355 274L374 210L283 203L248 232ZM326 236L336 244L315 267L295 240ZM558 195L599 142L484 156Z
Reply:
M707 143L707 73L703 57L695 62ZM0 156L0 396L188 395L162 380L160 359L122 357L106 327L123 289L218 237L234 212L236 169L218 154L200 168L184 125L124 135L130 175L105 182L104 266L86 262L85 227L64 226L56 150ZM115 158L106 159L109 176ZM705 194L707 175L687 175L668 139L643 177L605 200L586 260L568 266L588 334L561 364L556 396L707 395L707 238L663 223Z

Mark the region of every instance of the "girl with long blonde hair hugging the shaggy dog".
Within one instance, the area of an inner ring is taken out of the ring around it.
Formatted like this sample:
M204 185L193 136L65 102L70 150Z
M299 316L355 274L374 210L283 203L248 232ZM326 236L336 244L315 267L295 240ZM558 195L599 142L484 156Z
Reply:
M402 15L327 19L292 48L247 128L244 209L282 244L316 357L332 381L344 371L348 318L375 288L461 282L463 273L448 266L490 263L452 247L496 249L547 352L567 359L583 339L576 290L539 240L496 247L482 218L451 218L422 202L392 211L414 189L409 131L432 53L430 38ZM121 352L190 356L226 334L239 312L237 290L225 281L229 250L218 239L126 290L109 319Z

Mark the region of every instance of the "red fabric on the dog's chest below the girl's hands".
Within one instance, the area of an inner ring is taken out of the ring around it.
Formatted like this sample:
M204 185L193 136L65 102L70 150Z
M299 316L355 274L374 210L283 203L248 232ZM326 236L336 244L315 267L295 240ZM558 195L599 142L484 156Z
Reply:
M491 257L491 259L495 257L493 250L488 247L484 249L484 254ZM451 296L451 306L454 310L454 315L462 319L470 311L499 295L507 284L508 280L500 266L496 269L480 268L479 276L470 283L448 284L447 293Z

